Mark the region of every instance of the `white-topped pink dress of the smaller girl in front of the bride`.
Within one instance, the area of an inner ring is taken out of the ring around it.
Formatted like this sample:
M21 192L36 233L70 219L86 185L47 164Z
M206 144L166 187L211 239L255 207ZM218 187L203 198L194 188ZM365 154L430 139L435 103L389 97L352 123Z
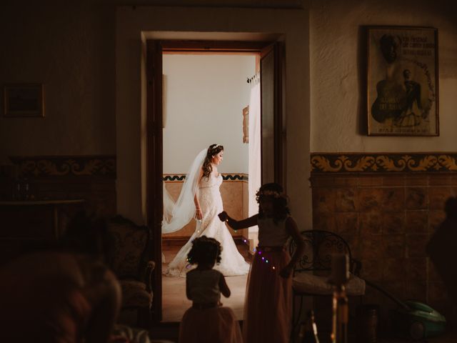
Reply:
M243 342L233 310L219 306L221 276L221 272L216 269L193 269L186 274L186 287L193 305L186 310L181 320L180 343Z

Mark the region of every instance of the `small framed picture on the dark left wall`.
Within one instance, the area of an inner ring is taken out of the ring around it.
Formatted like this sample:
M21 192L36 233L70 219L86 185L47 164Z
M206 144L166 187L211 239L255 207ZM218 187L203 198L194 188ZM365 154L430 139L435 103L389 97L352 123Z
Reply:
M6 84L4 116L44 116L43 84Z

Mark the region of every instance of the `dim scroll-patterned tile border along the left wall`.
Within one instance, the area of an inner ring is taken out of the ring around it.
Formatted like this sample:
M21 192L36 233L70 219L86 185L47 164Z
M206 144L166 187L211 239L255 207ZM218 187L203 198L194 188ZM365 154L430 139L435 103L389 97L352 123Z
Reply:
M116 156L10 156L21 177L112 177L116 178Z

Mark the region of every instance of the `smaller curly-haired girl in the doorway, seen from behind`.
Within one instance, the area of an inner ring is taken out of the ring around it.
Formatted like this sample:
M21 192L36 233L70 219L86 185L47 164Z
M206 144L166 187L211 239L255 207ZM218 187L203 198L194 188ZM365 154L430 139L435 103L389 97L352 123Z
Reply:
M221 244L201 236L192 242L187 260L198 267L186 274L186 296L192 307L179 327L180 343L241 343L241 330L230 307L222 307L221 293L230 297L224 275L213 269L221 262Z

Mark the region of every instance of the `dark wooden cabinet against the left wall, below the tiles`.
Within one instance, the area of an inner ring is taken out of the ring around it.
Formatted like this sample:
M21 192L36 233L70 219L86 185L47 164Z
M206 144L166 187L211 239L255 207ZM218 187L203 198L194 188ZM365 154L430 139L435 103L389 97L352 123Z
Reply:
M0 264L56 242L83 199L0 202Z

